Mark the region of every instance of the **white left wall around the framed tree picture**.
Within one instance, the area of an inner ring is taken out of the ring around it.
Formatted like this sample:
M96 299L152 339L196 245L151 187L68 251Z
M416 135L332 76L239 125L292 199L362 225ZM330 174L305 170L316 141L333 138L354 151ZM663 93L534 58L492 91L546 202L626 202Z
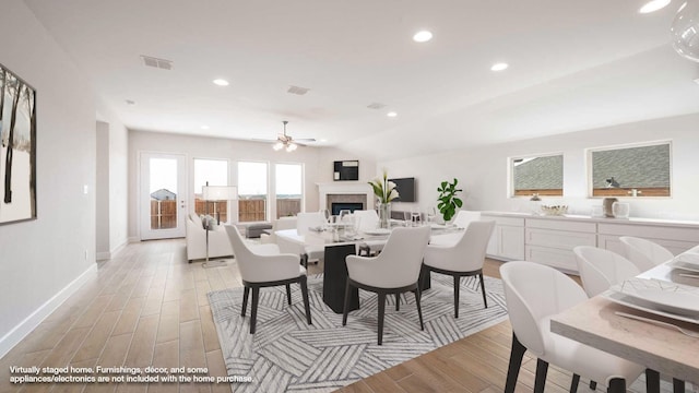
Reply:
M37 219L0 226L2 356L96 272L96 119L84 73L22 1L2 3L0 48L37 94Z

